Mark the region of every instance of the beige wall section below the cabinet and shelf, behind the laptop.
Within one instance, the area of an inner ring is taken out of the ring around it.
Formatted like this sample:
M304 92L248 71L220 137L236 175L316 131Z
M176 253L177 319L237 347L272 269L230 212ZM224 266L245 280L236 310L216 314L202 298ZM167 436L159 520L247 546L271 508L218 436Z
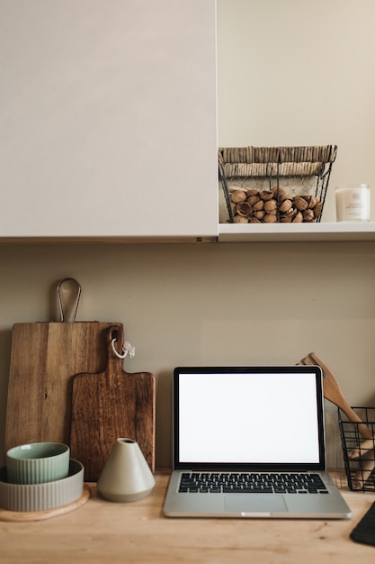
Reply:
M83 287L77 320L124 323L136 347L126 370L156 375L159 465L171 463L179 364L294 363L315 350L353 405L375 405L374 254L372 243L0 246L2 428L12 325L49 321L67 276Z

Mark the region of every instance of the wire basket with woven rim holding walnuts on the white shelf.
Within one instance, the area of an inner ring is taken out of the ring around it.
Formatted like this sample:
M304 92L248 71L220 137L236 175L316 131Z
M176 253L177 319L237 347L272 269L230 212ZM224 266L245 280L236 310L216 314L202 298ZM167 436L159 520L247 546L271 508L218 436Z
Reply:
M336 145L219 148L220 223L320 222Z

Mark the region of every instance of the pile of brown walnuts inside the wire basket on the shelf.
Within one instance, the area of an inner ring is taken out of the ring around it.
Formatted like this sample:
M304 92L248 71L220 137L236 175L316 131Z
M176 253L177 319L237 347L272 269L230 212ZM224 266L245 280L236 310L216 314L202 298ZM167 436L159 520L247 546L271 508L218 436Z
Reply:
M291 196L282 186L271 190L229 188L235 223L315 222L323 204L316 196Z

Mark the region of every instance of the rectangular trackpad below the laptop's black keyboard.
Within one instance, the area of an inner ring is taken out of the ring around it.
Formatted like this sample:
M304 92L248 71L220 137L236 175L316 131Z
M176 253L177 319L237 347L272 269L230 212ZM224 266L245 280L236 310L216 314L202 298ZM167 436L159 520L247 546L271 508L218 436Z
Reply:
M279 494L229 494L225 508L236 513L285 513L287 505Z

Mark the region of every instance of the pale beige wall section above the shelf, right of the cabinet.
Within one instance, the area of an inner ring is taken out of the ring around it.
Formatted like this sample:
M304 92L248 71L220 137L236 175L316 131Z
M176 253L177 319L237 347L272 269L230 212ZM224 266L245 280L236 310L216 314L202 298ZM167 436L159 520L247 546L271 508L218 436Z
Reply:
M375 189L374 20L373 0L218 0L219 146L337 145L323 221L338 184Z

